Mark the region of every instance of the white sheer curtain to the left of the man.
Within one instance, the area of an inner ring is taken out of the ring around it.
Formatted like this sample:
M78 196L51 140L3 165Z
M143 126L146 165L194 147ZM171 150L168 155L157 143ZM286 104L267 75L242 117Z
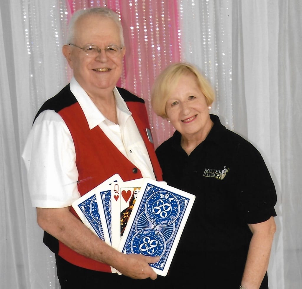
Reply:
M0 2L1 288L59 288L43 245L21 152L33 117L67 82L61 53L65 2Z

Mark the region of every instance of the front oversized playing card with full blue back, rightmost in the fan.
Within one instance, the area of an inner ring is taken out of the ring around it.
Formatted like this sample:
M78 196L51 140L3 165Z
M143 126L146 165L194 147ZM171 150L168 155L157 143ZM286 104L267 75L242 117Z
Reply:
M126 254L160 256L150 264L156 274L166 276L195 196L146 179L120 241Z

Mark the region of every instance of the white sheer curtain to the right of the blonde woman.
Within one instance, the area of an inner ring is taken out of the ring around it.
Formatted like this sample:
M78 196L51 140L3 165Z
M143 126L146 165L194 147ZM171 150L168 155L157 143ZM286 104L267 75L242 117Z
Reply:
M302 3L184 0L179 8L183 59L205 72L213 113L259 149L276 186L270 288L301 288Z

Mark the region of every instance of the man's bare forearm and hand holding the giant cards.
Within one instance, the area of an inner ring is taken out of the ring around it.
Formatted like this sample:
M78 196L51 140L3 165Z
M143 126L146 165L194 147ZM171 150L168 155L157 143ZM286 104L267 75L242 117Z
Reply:
M99 262L108 264L123 275L133 279L157 278L149 263L156 263L160 257L138 254L126 255L108 246L79 219L69 208L37 208L40 227L76 252Z

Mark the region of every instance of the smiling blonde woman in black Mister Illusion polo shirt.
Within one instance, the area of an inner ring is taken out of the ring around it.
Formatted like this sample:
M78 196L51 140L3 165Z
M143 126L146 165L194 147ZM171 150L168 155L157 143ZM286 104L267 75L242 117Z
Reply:
M155 113L176 129L156 150L163 179L196 196L168 278L175 288L268 288L275 186L259 151L209 113L213 101L188 63L153 86Z

